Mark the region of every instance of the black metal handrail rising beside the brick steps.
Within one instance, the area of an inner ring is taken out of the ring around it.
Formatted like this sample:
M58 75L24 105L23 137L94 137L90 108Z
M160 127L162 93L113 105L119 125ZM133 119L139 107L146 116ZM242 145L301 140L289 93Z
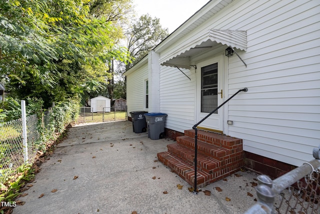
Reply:
M224 101L221 105L219 105L216 109L214 109L213 111L211 111L208 115L206 115L202 120L200 120L198 123L194 124L194 126L192 126L192 129L194 129L194 188L193 188L193 193L197 194L197 189L196 189L196 164L197 164L197 133L198 133L198 129L197 126L202 123L206 118L208 118L211 114L213 114L216 110L218 110L221 106L223 106L225 103L227 103L229 100L231 100L235 95L237 95L239 92L244 91L247 92L248 89L247 88L243 88L238 90L235 94L233 94L231 97L229 97L229 99L227 99L226 101Z

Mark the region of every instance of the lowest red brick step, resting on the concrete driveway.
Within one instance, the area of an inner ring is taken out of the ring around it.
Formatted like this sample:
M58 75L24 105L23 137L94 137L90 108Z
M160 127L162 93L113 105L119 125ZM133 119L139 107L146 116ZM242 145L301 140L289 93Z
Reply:
M177 156L165 151L157 154L158 160L169 167L191 186L194 185L194 167ZM197 169L197 188L209 184L210 175Z

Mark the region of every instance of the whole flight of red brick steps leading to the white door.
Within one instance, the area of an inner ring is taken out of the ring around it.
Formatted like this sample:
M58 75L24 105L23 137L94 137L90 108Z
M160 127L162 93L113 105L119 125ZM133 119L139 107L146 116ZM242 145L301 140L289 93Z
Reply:
M168 166L191 186L194 183L194 130L185 130L168 150L157 154ZM198 130L197 187L229 176L243 166L242 140Z

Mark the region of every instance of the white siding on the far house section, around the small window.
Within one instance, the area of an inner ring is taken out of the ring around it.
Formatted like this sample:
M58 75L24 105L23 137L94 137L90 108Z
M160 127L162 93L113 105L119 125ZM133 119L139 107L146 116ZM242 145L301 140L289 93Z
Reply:
M144 81L148 79L147 64L127 75L126 105L127 113L131 111L147 111L144 108Z

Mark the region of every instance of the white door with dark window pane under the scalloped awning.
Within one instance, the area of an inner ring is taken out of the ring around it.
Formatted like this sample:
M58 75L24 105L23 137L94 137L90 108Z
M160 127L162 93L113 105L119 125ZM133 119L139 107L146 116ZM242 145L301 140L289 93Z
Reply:
M197 79L197 122L207 116L223 102L223 56L199 62L196 65ZM223 132L223 107L198 125Z

